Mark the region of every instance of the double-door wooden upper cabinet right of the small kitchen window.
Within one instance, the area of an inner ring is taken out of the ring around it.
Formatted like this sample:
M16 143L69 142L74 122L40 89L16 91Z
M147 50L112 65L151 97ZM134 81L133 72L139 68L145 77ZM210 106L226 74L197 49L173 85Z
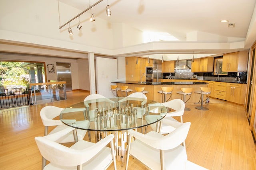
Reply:
M237 72L247 70L247 51L239 51L223 55L222 71Z

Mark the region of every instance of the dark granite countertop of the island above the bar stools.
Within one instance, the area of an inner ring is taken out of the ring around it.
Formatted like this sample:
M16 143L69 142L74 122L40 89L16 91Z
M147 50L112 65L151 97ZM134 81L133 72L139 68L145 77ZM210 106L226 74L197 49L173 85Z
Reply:
M146 85L178 85L178 84L207 84L205 82L145 82L139 83L136 81L116 81L112 83L127 83L127 84L146 84Z

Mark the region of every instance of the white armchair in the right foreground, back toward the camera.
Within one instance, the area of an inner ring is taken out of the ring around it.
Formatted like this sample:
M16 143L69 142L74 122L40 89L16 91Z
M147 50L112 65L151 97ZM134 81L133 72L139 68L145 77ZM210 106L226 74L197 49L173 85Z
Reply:
M128 130L128 148L126 170L129 156L142 162L152 170L185 170L187 162L186 149L180 145L185 141L190 128L190 122L180 123L172 133L164 136L156 131L142 134ZM132 137L136 140L131 142Z

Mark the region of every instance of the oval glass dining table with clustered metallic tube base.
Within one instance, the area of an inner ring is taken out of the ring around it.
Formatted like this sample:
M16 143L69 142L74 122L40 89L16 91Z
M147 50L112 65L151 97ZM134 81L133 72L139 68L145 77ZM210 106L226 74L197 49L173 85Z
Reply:
M91 131L95 131L95 142L113 133L116 157L123 165L127 130L140 129L143 133L143 127L146 129L146 126L157 123L157 129L153 130L158 131L159 121L165 117L166 112L167 108L161 103L144 98L100 98L65 108L60 113L60 120L70 127L87 130L90 141ZM155 115L155 119L148 122L145 120L147 115ZM79 123L85 120L90 122L89 126Z

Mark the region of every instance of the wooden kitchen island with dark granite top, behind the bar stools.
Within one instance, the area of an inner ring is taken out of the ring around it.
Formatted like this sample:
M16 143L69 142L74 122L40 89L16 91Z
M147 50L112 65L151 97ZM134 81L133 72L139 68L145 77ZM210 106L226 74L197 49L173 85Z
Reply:
M200 87L207 87L208 83L206 82L196 82L196 81L181 81L181 82L136 82L136 81L114 81L118 88L120 86L129 86L129 89L132 89L135 92L135 87L145 87L144 90L149 93L146 94L147 98L162 103L162 94L158 93L161 90L161 86L164 87L173 87L172 99L181 99L181 95L176 92L180 91L180 88L193 88L193 92L190 100L186 104L195 104L200 99L200 94L194 93L194 91L200 90ZM132 93L132 92L131 92ZM128 93L131 94L131 93ZM123 92L123 95L125 93ZM118 91L118 96L123 96L120 91ZM206 96L204 96L206 97ZM166 97L169 98L168 96ZM186 98L188 100L188 97Z

